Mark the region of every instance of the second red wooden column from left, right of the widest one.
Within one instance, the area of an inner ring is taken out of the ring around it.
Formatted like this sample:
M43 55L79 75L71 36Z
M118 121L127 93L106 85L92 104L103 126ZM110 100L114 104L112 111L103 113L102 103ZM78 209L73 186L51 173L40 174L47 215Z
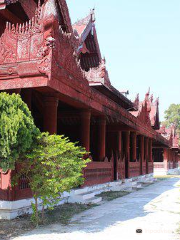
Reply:
M81 144L87 152L90 151L90 123L91 112L83 111L81 113Z

